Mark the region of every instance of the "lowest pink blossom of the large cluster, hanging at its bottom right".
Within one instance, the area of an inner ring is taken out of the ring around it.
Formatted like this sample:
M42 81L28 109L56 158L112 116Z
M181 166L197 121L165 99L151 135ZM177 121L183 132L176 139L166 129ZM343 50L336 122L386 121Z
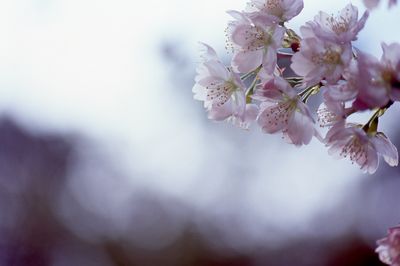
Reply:
M381 132L371 134L361 126L346 124L345 121L335 124L325 137L329 146L329 154L338 157L348 157L361 170L375 173L379 164L379 155L390 165L398 164L396 147Z

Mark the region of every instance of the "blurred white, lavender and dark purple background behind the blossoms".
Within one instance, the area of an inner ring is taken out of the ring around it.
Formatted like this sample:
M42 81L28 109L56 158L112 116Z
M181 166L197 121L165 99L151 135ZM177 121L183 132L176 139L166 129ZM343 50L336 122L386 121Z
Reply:
M293 29L348 4L304 2ZM225 11L245 4L0 1L1 266L381 265L399 168L363 175L192 99L198 41L229 62ZM356 46L380 56L399 16L381 3ZM381 119L397 147L399 111Z

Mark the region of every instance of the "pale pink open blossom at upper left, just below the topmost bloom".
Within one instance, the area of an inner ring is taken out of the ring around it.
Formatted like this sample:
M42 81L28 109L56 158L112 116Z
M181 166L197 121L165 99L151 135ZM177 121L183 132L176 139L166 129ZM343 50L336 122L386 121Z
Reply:
M250 20L243 13L229 11L236 18L229 23L229 39L234 55L232 67L246 73L260 65L268 73L273 73L277 62L277 49L281 47L285 30L269 21L266 16Z

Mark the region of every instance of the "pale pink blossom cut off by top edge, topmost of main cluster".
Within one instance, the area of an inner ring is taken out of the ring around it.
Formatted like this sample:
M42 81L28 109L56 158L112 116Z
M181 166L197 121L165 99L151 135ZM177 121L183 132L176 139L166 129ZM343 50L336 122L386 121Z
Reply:
M267 15L274 23L282 23L297 16L303 7L303 0L252 0L246 12L251 18Z

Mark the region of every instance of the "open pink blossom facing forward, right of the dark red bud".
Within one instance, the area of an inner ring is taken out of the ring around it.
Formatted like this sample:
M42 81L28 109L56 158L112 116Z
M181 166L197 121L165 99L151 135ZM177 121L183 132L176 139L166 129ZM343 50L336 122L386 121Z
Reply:
M302 32L308 30L302 27ZM301 41L300 52L292 57L292 70L304 77L306 86L325 80L336 84L352 58L351 45L338 45L318 38L305 38Z

